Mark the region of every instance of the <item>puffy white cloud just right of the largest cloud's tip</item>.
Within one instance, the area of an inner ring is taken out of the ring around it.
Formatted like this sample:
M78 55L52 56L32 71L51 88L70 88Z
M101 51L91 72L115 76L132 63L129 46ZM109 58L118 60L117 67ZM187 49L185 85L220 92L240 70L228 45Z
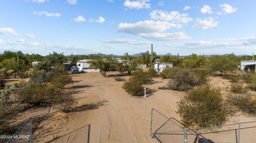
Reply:
M205 18L204 20L197 19L197 23L194 24L193 28L205 30L205 29L213 28L217 26L218 26L218 22L214 21L212 17L209 17L209 18Z

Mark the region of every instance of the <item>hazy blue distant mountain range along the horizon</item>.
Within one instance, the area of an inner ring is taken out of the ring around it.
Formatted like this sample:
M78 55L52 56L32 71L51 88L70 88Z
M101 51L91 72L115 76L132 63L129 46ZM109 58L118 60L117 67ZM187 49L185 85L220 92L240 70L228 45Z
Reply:
M91 56L91 55L100 55L100 56L111 56L111 57L122 57L123 55L114 55L114 54L110 54L110 55L107 55L107 54L102 54L102 53L97 53L97 54L89 54L87 56ZM132 57L139 57L142 55L142 52L140 53L137 53L137 54L132 54L130 56ZM169 56L177 56L177 55L172 55L171 53L167 53L167 54L163 54L163 55L169 55ZM74 56L81 56L81 55L74 55ZM159 55L159 56L162 56L162 55ZM187 55L179 55L179 57L186 57ZM205 57L211 57L212 55L204 55ZM241 56L247 56L247 55L237 55L238 57L241 57Z

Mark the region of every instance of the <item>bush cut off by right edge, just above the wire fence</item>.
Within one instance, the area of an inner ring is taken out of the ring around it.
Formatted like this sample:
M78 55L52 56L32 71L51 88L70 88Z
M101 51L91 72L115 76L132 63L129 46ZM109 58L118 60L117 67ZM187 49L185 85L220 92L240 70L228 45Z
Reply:
M252 95L229 95L227 100L245 113L256 114L256 99L253 99Z

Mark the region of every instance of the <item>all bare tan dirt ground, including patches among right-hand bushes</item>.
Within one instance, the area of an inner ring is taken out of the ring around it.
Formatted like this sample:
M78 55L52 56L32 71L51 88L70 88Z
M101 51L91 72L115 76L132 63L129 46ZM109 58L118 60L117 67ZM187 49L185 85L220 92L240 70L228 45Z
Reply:
M180 120L177 102L184 96L184 92L160 90L169 79L154 78L154 83L145 87L155 89L149 97L133 97L122 88L123 82L115 81L111 75L118 72L108 72L109 77L103 78L100 73L84 73L70 75L75 81L67 89L74 89L74 97L78 103L76 110L71 113L60 113L53 107L40 107L20 113L18 119L34 117L35 142L86 142L87 128L90 124L90 142L156 142L150 137L151 108L163 114ZM129 77L123 77L126 80ZM228 92L229 81L211 77L210 85L219 85L223 92ZM220 88L219 87L219 88ZM218 86L217 86L218 88ZM226 91L227 90L227 91ZM42 118L43 117L43 118ZM229 117L227 123L255 121L255 117L237 114ZM69 133L81 128L79 133ZM65 135L68 134L68 135ZM64 136L62 138L62 136ZM83 141L70 141L79 136Z

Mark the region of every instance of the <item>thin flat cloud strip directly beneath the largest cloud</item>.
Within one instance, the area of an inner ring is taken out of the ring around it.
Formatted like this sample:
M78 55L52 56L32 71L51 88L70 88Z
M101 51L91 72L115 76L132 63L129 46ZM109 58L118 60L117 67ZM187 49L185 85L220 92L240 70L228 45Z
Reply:
M181 40L188 39L189 36L184 32L174 32L174 33L143 33L142 38L153 39L153 40Z

